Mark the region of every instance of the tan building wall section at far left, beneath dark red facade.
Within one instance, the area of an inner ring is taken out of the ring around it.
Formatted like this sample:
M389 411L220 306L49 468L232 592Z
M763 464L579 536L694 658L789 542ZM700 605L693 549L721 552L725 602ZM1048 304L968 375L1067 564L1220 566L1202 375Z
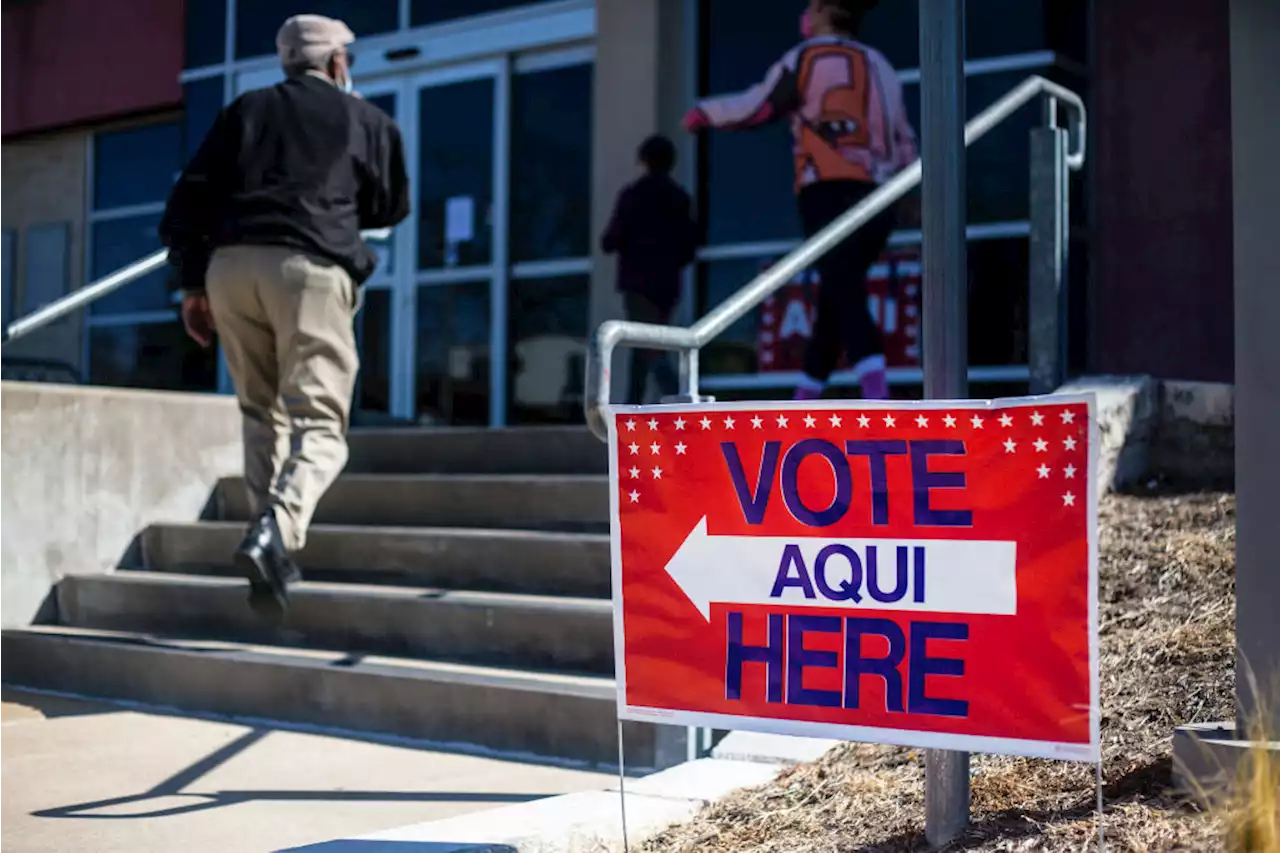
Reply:
M0 145L0 229L18 237L13 316L22 310L26 232L32 225L67 223L68 291L84 283L86 161L90 143L87 129L27 137ZM83 347L81 315L70 316L29 338L6 346L0 356L56 359L82 370Z

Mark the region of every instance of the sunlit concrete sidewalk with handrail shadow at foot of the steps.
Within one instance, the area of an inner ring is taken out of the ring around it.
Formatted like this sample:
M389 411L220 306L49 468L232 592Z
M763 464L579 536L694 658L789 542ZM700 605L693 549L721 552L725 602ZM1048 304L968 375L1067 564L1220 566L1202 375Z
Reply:
M0 850L278 850L608 775L196 720L0 686Z

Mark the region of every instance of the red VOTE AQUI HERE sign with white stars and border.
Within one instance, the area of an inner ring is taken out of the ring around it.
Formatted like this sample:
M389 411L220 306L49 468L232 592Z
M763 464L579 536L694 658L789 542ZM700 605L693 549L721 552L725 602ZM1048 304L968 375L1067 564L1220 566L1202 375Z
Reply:
M618 715L1097 761L1092 394L617 406Z

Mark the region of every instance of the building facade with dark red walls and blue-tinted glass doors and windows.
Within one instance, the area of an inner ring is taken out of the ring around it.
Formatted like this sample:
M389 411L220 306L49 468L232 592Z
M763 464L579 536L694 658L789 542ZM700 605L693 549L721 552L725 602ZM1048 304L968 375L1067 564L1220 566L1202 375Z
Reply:
M799 242L783 128L691 140L678 123L694 99L756 82L794 44L803 5L0 3L0 320L155 251L168 188L216 111L279 79L276 28L316 12L360 37L357 88L402 126L413 183L413 214L379 246L358 319L357 418L575 421L586 334L621 315L596 237L646 134L678 141L678 177L705 234L682 319ZM863 33L900 70L913 119L916 5L882 0ZM1231 378L1229 37L1226 4L1216 5L968 0L969 115L1028 74L1089 105L1089 165L1073 182L1075 371ZM1028 131L1038 120L1027 109L969 152L975 393L1025 382ZM901 223L873 305L893 333L918 320L913 225ZM788 388L785 307L763 306L704 352L713 393ZM161 274L4 357L64 362L96 384L228 391L216 353L186 341ZM908 332L895 371L904 393L918 386L915 359Z

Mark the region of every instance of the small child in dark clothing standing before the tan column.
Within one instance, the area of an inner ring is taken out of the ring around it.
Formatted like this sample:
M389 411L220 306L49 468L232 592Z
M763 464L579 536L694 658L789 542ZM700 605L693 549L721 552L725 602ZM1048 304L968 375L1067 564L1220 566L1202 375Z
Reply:
M666 324L680 301L681 270L694 260L698 228L689 193L671 178L676 146L664 136L645 140L639 152L644 175L618 195L602 240L618 256L618 289L627 319ZM662 352L636 350L630 402L643 403L649 374L663 394L678 389L676 371Z

